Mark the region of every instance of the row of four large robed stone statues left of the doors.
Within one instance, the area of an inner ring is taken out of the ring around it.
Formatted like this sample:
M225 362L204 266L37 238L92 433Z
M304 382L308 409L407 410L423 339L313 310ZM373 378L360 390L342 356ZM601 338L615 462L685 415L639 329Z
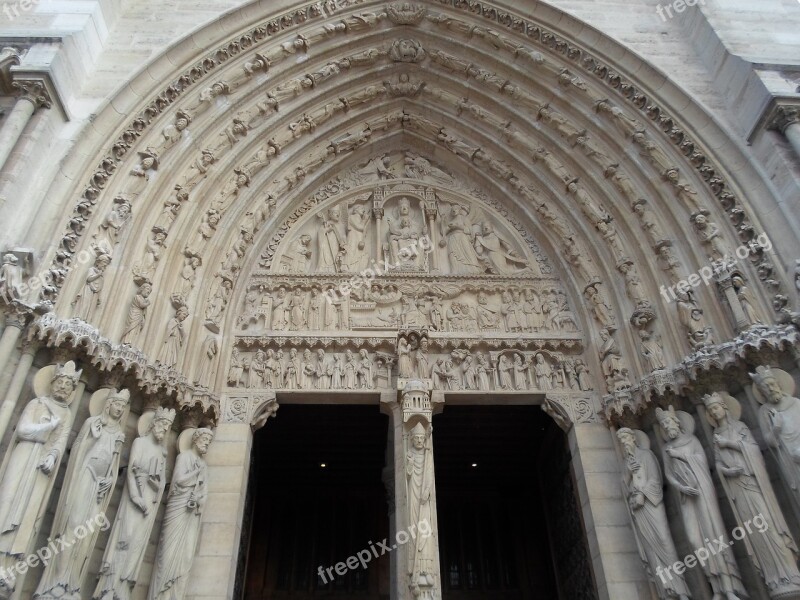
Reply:
M66 451L73 418L70 404L80 373L72 362L53 368L49 390L27 404L6 452L0 474L0 597L18 592L22 585L18 576L27 570L20 565L35 556L29 554L31 544ZM102 404L95 405L93 396L93 416L84 422L70 449L49 536L57 550L45 566L35 598L81 598L94 588L93 599L125 600L132 597L139 577L167 485L166 440L175 410L158 408L142 415L111 525L106 511L120 472L130 393L112 389L99 399ZM184 441L187 447L176 458L149 600L180 599L186 591L208 494L203 455L212 438L210 429L193 430L191 442ZM87 524L101 522L111 525L111 533L100 572L89 581L89 559L100 529Z

